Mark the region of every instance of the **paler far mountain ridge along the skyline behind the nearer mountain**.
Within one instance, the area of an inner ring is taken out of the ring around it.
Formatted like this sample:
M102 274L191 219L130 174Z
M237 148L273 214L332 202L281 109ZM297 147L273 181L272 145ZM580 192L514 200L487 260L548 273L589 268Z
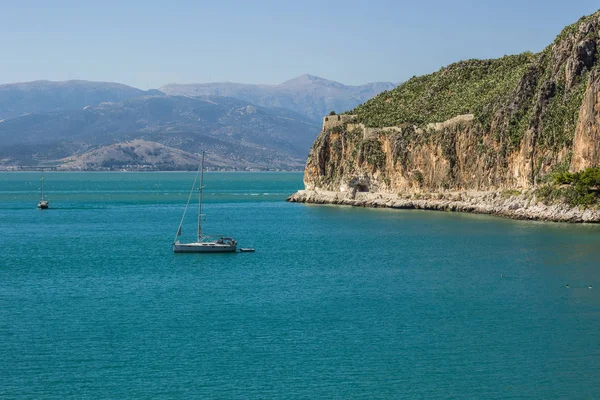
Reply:
M35 80L0 84L0 119L27 113L77 109L137 96L168 94L235 97L259 106L288 108L317 122L326 112L352 109L375 94L395 86L396 84L391 82L345 85L310 74L303 74L279 84L170 83L159 89L149 90L106 81Z

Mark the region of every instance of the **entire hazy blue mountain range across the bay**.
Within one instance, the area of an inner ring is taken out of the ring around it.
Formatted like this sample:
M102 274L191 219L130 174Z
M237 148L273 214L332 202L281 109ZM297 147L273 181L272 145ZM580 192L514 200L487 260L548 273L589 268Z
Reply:
M310 75L149 91L88 81L0 85L0 166L188 169L206 150L209 167L301 169L323 115L393 86Z

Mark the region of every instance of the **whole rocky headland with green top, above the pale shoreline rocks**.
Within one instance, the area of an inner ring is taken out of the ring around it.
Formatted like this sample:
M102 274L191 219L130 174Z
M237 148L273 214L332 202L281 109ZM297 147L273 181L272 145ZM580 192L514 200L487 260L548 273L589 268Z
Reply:
M600 12L542 53L471 60L328 116L308 190L419 193L531 188L600 164Z

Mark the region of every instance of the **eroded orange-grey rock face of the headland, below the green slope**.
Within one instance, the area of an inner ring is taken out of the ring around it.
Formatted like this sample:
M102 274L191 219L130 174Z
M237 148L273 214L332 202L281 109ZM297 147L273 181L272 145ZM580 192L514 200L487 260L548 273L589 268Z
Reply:
M438 124L348 121L324 129L307 160L305 187L352 196L530 189L558 166L600 164L599 21L599 13L588 17L540 53L490 104L489 123L475 110Z

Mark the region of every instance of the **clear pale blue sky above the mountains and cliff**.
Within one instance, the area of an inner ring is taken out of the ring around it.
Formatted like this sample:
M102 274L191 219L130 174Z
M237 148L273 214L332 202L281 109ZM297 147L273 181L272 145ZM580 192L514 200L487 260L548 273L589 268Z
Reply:
M401 82L538 52L592 0L0 0L0 83Z

